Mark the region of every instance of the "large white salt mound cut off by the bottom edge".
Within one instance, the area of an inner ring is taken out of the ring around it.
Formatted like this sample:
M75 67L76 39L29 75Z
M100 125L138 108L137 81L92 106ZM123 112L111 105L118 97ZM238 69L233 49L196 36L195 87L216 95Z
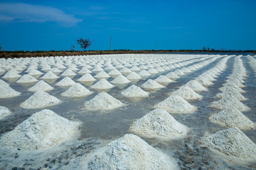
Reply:
M126 134L110 142L88 161L88 170L178 170L175 159Z

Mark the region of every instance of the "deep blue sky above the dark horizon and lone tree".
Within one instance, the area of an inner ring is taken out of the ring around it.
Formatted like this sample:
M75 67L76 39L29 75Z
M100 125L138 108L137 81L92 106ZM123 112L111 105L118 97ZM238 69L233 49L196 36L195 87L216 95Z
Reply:
M0 0L7 51L256 50L255 0Z

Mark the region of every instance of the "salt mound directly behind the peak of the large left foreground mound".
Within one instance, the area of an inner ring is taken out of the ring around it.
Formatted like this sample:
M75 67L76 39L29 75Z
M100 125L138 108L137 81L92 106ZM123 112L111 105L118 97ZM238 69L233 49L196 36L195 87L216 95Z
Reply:
M45 91L36 91L25 102L20 104L22 108L46 108L60 103L61 101L56 97L49 95Z

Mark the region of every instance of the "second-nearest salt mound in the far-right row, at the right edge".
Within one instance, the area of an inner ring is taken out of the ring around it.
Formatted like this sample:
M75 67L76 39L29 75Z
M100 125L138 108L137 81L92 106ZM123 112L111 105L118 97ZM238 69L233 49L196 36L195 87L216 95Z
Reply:
M256 124L234 107L224 109L212 115L209 119L211 123L230 128L238 127L241 130L252 130L256 127Z

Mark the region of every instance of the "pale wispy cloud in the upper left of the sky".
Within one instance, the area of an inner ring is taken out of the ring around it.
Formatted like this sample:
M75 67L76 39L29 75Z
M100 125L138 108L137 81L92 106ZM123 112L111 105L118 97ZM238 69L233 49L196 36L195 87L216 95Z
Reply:
M57 22L65 26L74 26L83 19L74 15L42 5L25 3L0 3L0 22Z

